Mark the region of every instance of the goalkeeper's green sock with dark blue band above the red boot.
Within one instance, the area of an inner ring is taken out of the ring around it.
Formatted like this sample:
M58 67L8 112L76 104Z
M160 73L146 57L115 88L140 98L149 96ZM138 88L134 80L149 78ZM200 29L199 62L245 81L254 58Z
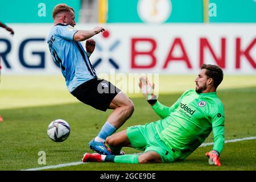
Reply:
M127 164L138 164L139 155L107 155L105 162L114 162L114 163L127 163Z

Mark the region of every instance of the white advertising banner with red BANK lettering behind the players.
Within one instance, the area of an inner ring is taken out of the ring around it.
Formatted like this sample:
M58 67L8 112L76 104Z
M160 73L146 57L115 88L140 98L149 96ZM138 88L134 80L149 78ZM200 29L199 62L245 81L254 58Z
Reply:
M60 74L47 45L52 24L9 24L0 30L1 73ZM203 63L224 73L256 74L256 24L77 24L78 30L103 26L93 36L90 56L97 73L195 74ZM85 42L82 43L85 46Z

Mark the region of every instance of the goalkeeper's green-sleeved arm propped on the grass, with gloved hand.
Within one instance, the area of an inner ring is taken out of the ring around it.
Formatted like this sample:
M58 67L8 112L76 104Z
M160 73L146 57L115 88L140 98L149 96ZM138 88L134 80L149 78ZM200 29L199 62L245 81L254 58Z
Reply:
M221 107L222 108L222 107ZM224 110L219 109L212 118L212 133L213 133L213 148L212 151L207 152L209 164L221 166L220 154L224 148Z

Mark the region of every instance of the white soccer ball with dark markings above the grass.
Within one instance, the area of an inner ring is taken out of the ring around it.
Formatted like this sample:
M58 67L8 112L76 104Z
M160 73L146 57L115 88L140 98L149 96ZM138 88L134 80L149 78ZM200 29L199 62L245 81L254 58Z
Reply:
M54 142L63 142L70 134L70 126L63 119L56 119L49 123L47 135Z

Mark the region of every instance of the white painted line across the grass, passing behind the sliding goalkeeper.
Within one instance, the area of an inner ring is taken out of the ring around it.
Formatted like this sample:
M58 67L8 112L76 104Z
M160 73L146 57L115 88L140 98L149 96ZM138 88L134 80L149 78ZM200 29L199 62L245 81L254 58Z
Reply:
M231 139L231 140L226 140L225 143L240 142L242 140L253 140L253 139L256 139L256 137ZM206 147L206 146L212 146L212 145L213 145L213 142L202 143L199 147ZM138 153L138 154L142 154L142 153ZM37 171L37 170L44 170L44 169L55 169L55 168L67 167L67 166L77 166L80 164L87 164L87 163L73 162L73 163L58 164L58 165L53 165L53 166L44 166L44 167L38 167L38 168L23 169L21 171Z

